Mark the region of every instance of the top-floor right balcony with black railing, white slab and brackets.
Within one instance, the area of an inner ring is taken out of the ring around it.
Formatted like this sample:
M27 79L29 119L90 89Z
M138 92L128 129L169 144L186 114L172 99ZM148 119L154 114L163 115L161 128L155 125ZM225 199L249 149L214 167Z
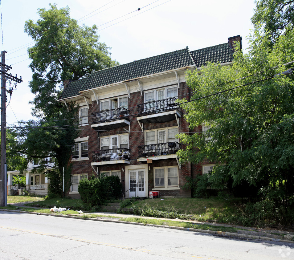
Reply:
M176 98L174 97L138 105L137 121L139 124L164 123L174 119L178 122L178 118L181 117L181 114L178 112L179 107L175 103L175 100Z

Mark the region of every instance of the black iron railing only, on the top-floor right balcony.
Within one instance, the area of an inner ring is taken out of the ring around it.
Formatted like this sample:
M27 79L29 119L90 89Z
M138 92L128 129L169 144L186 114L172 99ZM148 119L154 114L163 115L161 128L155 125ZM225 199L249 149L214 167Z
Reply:
M179 107L175 101L176 98L174 97L140 104L138 105L138 114L159 113L177 109Z

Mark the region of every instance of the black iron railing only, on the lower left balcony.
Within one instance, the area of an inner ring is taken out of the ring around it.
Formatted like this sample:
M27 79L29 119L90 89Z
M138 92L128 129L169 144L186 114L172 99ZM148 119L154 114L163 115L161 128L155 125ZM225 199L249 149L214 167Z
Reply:
M115 148L95 151L92 154L93 162L110 161L110 160L129 160L130 149L127 148Z

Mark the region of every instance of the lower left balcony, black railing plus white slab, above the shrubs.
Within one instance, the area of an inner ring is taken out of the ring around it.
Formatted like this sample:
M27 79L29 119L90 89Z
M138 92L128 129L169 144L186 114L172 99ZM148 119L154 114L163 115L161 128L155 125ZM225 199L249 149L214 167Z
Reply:
M127 148L95 151L92 153L92 156L92 166L118 163L130 164L130 149Z

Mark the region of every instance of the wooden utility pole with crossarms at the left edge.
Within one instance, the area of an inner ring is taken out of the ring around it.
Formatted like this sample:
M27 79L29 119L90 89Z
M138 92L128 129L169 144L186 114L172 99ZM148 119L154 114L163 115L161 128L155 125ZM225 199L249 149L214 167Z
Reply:
M1 52L1 158L0 158L0 206L7 206L7 174L6 174L6 92L12 94L13 85L10 90L6 89L6 78L15 81L16 83L22 82L22 77L17 78L17 74L12 76L6 71L12 67L5 64L5 53Z

